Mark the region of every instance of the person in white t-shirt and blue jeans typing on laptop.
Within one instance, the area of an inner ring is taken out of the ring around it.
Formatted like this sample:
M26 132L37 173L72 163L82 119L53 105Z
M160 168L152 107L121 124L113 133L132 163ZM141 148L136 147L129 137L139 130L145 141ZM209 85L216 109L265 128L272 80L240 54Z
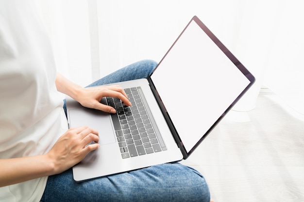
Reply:
M0 202L210 201L203 176L178 163L75 183L71 167L99 148L94 128L67 127L65 93L84 107L115 113L101 97L130 105L119 86L145 78L152 61L129 65L82 88L56 73L31 0L0 0ZM89 142L95 141L95 144Z

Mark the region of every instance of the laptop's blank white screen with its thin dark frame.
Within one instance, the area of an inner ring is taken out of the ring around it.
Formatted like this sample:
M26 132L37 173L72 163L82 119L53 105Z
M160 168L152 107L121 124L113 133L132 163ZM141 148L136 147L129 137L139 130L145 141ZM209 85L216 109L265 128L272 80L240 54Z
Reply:
M254 81L196 16L158 64L151 79L186 155Z

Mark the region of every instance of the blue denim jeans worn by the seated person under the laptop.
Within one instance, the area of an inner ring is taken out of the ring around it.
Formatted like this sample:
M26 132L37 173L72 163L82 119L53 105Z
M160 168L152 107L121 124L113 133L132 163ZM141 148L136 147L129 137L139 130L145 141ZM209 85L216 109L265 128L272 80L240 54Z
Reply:
M157 63L140 61L89 86L146 78ZM210 202L203 176L179 163L166 163L76 183L72 169L49 176L42 202Z

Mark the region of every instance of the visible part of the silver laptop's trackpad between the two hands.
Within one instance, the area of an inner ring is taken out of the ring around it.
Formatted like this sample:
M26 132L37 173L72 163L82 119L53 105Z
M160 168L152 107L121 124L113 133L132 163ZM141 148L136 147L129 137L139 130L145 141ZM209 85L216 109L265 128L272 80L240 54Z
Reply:
M70 127L86 125L98 131L99 144L109 144L116 141L109 113L88 108L69 110Z

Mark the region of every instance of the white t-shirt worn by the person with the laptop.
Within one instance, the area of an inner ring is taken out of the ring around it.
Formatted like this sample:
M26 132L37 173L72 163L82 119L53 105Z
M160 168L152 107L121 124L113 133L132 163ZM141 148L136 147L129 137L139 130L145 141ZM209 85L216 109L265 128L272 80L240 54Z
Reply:
M33 2L0 0L2 159L45 154L68 129L52 49ZM0 187L0 202L39 202L46 182Z

